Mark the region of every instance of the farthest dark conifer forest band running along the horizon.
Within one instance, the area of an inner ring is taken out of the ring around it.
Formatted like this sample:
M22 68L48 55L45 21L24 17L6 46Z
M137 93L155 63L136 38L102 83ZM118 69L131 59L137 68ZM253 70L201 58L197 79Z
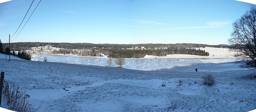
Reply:
M11 49L14 51L29 50L31 47L52 45L52 47L64 48L64 49L87 49L90 48L141 48L154 49L154 48L199 48L199 47L217 47L217 48L232 48L232 46L222 45L207 45L207 44L92 44L92 43L41 43L41 42L18 42L11 43ZM3 43L3 48L9 47L9 43Z

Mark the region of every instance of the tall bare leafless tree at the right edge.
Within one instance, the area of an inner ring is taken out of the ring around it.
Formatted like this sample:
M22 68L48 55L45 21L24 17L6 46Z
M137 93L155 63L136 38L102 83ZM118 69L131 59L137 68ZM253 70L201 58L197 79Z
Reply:
M231 51L244 60L244 67L256 68L256 8L252 7L244 15L233 22L233 31L228 43L233 45Z

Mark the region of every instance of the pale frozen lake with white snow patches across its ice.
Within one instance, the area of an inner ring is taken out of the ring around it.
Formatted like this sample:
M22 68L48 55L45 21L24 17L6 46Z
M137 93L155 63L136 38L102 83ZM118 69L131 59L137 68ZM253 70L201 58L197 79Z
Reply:
M73 64L85 64L85 65L98 65L106 66L107 58L95 58L95 57L83 57L83 56L61 56L61 55L32 55L33 61L43 61L44 57L47 57L48 62L60 62L60 63L73 63ZM114 59L115 61L115 59ZM172 67L181 64L191 63L222 63L236 61L235 58L221 58L221 59L125 59L123 68L128 69L153 69ZM117 65L113 63L113 66Z

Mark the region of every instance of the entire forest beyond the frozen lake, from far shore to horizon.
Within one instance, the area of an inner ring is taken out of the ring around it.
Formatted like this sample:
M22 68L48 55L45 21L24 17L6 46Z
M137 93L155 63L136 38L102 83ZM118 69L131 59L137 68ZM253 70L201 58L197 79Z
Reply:
M62 48L53 51L54 54L73 53L81 56L101 56L101 53L109 58L143 58L145 55L166 56L167 54L191 54L199 56L209 56L209 52L194 49L199 47L232 47L222 45L207 44L91 44L91 43L40 43L40 42L19 42L11 43L11 51L29 50L31 47L52 45L52 47ZM3 43L3 47L9 44ZM140 49L128 49L138 47ZM141 47L145 49L141 50ZM76 49L76 50L72 50Z

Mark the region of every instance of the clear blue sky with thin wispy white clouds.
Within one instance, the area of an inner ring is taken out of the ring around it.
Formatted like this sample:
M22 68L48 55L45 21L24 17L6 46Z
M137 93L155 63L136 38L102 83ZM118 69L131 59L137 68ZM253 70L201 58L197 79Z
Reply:
M0 4L2 43L15 33L32 1ZM234 0L42 0L12 42L228 44L232 22L252 6Z

